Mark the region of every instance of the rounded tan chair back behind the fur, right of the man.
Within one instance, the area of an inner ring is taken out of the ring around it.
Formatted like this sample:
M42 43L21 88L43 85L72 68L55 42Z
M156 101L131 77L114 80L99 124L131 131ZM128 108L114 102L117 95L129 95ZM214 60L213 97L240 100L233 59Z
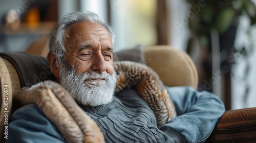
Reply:
M170 45L148 46L145 63L159 75L164 85L198 88L198 73L193 60L184 51Z

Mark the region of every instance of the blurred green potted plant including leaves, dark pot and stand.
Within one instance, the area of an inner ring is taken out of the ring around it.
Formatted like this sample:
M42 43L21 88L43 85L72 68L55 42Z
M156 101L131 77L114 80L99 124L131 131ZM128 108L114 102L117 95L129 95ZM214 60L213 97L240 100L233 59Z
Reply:
M206 56L201 59L198 65L202 66L204 70L201 77L202 80L210 81L212 77L212 31L218 34L220 52L226 53L221 55L221 65L227 65L231 70L231 65L234 63L233 56L239 53L240 56L247 57L251 53L245 46L234 48L234 40L236 38L236 31L241 15L247 15L250 19L250 25L256 24L256 6L251 0L186 0L190 5L190 13L187 13L188 27L190 30L190 38L187 42L187 53L191 54L195 50L195 39L198 41L201 51L204 51ZM194 15L193 13L194 12ZM190 14L190 15L189 15ZM250 29L248 30L248 37L250 37ZM252 44L252 38L248 38ZM248 44L248 43L247 43ZM252 46L251 46L252 47ZM202 52L203 53L203 52ZM247 66L248 67L248 66ZM225 79L225 95L231 97L230 91L226 87L230 87L230 70L225 73L228 77ZM246 69L248 72L249 68ZM200 82L200 75L199 75ZM228 85L229 84L229 85ZM200 87L200 85L199 85ZM203 88L203 86L201 86ZM204 88L203 88L204 89ZM207 90L207 89L204 89ZM208 91L211 91L208 90ZM228 95L229 94L229 95ZM230 103L227 109L230 108Z

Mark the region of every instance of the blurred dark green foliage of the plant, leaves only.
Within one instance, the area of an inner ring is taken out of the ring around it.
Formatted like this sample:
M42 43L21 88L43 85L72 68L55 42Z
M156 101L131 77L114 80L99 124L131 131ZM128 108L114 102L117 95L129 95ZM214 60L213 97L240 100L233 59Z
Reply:
M217 30L220 35L224 34L230 26L236 26L238 24L240 15L248 15L251 25L256 23L256 6L251 0L186 1L189 3L191 11L195 11L195 6L202 6L200 10L195 12L196 14L193 18L189 18L191 37L196 36L201 47L208 47L210 45L208 35L211 30ZM189 42L191 42L191 39L189 39ZM191 52L191 48L188 43L188 53Z

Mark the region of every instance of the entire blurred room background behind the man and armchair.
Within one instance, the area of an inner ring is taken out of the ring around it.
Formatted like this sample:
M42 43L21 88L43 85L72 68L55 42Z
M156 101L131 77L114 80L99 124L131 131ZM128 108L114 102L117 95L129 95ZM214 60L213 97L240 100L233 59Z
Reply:
M46 56L59 20L71 11L90 10L113 27L115 51L138 44L176 46L196 63L198 90L216 93L226 109L256 107L255 4L256 0L0 0L0 52Z

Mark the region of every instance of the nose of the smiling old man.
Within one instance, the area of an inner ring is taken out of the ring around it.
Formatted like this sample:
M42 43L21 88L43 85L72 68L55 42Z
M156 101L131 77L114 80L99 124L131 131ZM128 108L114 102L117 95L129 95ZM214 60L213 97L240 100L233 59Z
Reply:
M106 71L106 68L107 67L106 67L106 63L105 63L103 55L101 55L101 54L95 55L93 57L91 69L103 72L103 71Z

